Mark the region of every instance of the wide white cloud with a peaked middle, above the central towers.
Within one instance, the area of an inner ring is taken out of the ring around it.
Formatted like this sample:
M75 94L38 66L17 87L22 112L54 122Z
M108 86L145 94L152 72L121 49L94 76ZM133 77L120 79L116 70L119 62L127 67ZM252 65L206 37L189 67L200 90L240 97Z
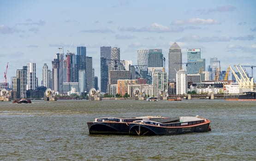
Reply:
M169 28L167 26L152 23L150 26L145 26L139 29L130 27L130 28L119 28L119 31L129 31L129 32L156 32L156 33L166 33L166 32L182 32L183 28Z

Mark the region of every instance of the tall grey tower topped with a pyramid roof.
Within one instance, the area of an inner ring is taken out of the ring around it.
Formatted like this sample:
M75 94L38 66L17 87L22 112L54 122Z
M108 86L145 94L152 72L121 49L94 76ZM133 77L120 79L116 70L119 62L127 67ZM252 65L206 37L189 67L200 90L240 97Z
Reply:
M176 73L182 68L182 53L179 45L174 42L168 54L168 77L169 81L176 80Z

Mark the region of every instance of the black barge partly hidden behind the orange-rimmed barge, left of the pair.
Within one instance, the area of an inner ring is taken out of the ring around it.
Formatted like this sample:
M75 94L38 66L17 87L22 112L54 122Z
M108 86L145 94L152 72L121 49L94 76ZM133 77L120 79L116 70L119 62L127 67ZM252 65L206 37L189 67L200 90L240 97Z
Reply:
M173 118L172 118L173 119ZM176 118L176 120L179 118ZM171 122L169 118L162 116L142 116L133 118L104 117L95 118L95 121L87 122L90 134L129 134L129 124L133 121L158 121L162 123Z

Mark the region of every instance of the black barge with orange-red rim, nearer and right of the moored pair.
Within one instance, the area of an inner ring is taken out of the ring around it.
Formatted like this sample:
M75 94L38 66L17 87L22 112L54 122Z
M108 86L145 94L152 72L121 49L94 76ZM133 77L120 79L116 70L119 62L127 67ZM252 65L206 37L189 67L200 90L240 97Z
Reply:
M210 120L201 117L181 116L170 123L137 120L129 124L129 135L172 135L210 131Z

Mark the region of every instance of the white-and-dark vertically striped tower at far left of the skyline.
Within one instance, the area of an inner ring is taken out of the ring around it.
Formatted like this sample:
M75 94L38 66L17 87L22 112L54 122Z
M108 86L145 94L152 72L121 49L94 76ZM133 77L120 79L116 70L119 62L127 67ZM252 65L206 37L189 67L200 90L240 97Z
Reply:
M27 90L36 90L36 63L27 63Z

